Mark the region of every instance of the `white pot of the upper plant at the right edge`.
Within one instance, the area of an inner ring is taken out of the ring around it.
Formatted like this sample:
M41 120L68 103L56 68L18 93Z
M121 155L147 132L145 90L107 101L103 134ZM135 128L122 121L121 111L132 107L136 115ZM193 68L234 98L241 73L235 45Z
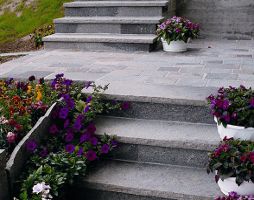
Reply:
M217 119L215 118L217 123ZM222 124L217 123L218 132L220 138L223 140L225 137L234 138L240 140L251 140L254 141L254 128L245 128L243 126L227 125L225 128Z

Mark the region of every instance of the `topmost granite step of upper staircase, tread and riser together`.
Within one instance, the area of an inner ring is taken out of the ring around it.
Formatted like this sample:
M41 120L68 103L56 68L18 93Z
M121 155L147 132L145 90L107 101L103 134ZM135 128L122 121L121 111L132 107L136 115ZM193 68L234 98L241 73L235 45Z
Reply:
M65 16L163 16L168 1L76 1L65 3Z

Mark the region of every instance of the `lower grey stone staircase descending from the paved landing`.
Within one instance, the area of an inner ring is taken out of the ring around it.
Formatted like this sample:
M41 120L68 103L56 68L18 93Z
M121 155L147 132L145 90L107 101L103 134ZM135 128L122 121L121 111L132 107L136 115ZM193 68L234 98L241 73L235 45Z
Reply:
M186 97L197 94L177 90ZM120 146L75 185L73 199L212 200L221 195L205 169L208 151L219 143L203 98L207 94L199 91L194 100L114 93L107 97L128 100L131 107L100 117L97 133L116 135Z

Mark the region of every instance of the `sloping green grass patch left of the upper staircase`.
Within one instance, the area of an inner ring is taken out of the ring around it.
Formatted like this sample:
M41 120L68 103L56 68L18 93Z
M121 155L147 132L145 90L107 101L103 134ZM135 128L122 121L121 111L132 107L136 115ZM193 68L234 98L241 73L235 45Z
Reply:
M0 5L6 0L0 0ZM71 0L37 0L26 7L21 3L16 12L5 12L0 16L0 43L10 42L26 36L53 19L63 16L63 3ZM21 12L17 16L17 12Z

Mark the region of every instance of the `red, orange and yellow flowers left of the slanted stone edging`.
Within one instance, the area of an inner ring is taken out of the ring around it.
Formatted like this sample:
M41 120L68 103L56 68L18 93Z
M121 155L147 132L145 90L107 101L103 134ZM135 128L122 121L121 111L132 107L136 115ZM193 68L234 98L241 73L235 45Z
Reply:
M15 145L57 99L57 92L34 76L28 81L0 80L0 148Z

